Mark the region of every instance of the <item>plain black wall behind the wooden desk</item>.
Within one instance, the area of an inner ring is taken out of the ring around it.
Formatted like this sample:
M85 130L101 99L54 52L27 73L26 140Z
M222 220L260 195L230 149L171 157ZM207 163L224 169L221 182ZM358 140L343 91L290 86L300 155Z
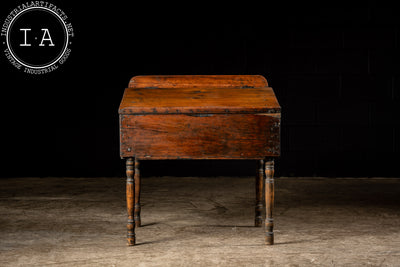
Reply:
M129 79L146 74L264 75L283 109L278 176L400 176L394 5L51 2L74 27L67 62L28 75L0 55L2 177L124 175L118 105ZM1 5L4 20L17 3ZM254 167L149 161L143 174L251 175Z

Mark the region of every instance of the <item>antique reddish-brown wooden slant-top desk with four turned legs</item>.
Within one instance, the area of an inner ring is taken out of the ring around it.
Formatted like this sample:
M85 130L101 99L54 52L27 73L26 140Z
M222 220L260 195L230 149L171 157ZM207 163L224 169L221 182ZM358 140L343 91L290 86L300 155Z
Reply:
M274 243L274 161L281 109L259 75L136 76L119 107L120 155L126 158L128 245L140 219L140 160L254 159L255 226Z

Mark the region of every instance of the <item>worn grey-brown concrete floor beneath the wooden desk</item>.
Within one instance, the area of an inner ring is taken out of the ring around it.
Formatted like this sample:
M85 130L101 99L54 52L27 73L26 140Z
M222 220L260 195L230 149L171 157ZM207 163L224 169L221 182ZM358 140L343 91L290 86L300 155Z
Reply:
M276 179L275 242L254 178L145 177L138 245L123 178L0 180L0 266L400 266L400 179Z

